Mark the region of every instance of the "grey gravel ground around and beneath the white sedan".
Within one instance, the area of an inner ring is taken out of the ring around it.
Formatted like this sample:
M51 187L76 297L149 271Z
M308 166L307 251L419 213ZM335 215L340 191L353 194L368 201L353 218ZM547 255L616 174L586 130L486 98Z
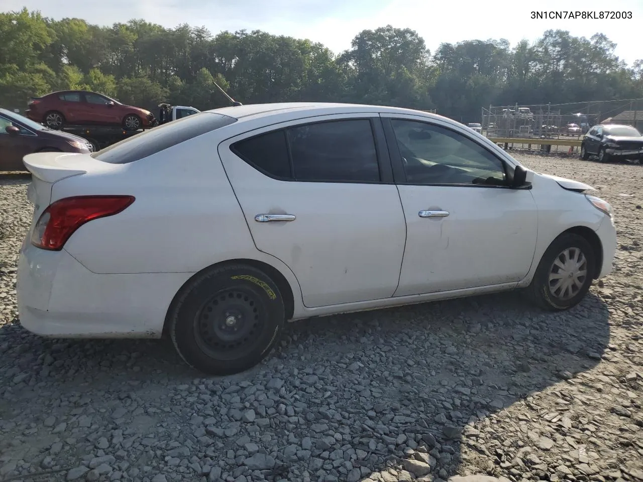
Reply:
M643 166L516 157L615 209L615 271L579 307L500 294L294 323L226 378L167 341L21 328L29 179L0 175L0 480L643 480Z

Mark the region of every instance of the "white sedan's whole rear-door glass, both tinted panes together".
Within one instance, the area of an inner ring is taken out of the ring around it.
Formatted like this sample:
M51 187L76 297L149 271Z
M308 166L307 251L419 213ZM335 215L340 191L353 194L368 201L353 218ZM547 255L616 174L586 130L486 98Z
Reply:
M291 181L380 181L368 119L298 125L232 146L237 156L264 174Z

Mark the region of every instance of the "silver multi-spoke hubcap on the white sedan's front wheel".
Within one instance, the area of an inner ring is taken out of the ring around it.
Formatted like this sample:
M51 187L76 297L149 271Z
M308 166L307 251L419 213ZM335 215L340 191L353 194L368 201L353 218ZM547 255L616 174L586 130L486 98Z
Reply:
M558 299L573 298L587 279L587 259L577 247L556 256L549 270L549 292Z

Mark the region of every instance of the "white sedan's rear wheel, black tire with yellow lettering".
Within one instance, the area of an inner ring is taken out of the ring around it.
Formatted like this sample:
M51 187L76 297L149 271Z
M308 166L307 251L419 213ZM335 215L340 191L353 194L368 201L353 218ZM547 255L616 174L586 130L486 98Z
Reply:
M280 338L284 301L275 282L248 265L207 269L168 313L170 337L193 368L233 375L257 365Z

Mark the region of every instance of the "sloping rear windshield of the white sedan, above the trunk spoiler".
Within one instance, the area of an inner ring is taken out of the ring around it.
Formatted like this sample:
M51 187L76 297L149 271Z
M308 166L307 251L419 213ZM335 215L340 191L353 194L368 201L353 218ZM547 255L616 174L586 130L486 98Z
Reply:
M233 117L216 114L215 112L199 112L183 119L159 125L131 138L123 139L116 144L94 152L91 156L105 163L133 163L138 159L151 156L211 130L221 129L221 127L236 121Z

